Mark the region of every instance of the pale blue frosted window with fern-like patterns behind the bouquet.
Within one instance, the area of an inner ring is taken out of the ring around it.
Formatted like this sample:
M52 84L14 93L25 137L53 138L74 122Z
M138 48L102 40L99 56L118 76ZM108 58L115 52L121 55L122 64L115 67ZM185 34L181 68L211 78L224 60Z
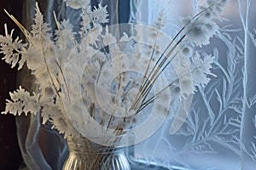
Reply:
M197 14L204 0L133 1L132 22L152 24L164 8L165 31L177 32L177 20ZM154 8L153 8L154 7ZM171 17L170 17L171 16ZM220 31L200 49L215 56L206 88L193 98L183 127L170 135L166 121L150 139L130 150L144 168L252 170L256 167L256 2L230 0L219 18Z

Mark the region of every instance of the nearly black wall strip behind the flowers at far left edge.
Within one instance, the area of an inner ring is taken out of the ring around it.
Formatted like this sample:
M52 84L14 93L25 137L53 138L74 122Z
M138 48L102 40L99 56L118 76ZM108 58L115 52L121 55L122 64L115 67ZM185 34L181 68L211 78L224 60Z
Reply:
M8 24L9 31L15 29L15 35L20 31L14 22L3 12L7 9L18 20L21 20L23 0L1 0L0 2L0 34L4 34L4 23ZM16 36L15 36L16 37ZM1 58L3 55L1 55ZM9 99L9 91L16 88L16 69L10 69L10 65L0 59L0 107L1 112L5 108L5 99ZM12 170L20 167L22 158L16 138L15 116L0 115L0 169Z

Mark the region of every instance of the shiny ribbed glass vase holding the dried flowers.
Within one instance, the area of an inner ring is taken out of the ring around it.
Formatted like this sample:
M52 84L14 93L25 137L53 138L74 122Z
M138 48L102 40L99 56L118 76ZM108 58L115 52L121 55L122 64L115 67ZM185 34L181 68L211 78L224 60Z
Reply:
M84 137L67 138L69 155L62 170L130 170L124 148L96 144Z

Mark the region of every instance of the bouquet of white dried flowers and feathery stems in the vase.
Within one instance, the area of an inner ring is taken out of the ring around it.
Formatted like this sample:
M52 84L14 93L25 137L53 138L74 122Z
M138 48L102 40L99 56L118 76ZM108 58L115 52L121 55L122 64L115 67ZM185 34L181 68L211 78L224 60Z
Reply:
M179 103L209 82L214 58L192 48L207 45L218 33L212 20L227 1L207 0L199 14L183 20L172 40L160 32L164 13L153 27L127 25L128 31L120 32L122 26L102 27L108 23L107 7L99 4L91 9L84 0L65 2L82 8L79 32L73 31L69 20L55 20L57 30L52 35L38 4L31 31L9 14L27 42L13 39L13 31L9 33L5 25L0 53L19 70L26 63L39 90L29 94L20 87L10 93L12 100L7 100L3 114L40 112L43 123L51 122L66 136L102 129L126 133L147 120L150 111L171 114L175 99Z

